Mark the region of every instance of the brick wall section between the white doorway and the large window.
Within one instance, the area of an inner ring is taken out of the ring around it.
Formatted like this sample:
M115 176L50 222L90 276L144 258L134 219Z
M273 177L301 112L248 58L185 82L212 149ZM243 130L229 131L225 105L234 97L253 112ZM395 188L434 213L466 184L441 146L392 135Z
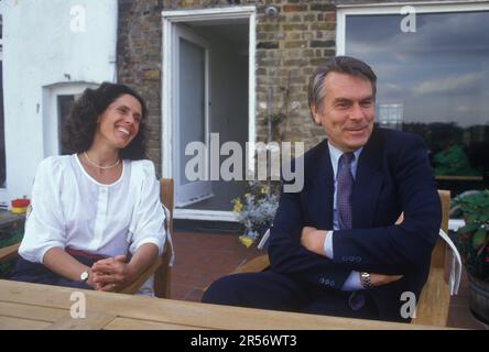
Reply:
M285 112L281 124L286 141L303 141L306 148L324 138L309 117L308 78L326 58L335 55L336 10L332 1L273 1L279 16L258 7L257 107L258 134L265 139L260 121L267 116L267 97L273 88L274 112Z

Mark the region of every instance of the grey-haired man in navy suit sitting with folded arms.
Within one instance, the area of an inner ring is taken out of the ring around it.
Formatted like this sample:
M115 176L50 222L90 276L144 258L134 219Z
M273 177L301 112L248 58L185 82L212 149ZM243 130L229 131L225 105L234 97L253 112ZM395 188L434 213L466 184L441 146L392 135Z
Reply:
M441 204L422 140L373 127L376 85L352 57L316 69L308 101L327 140L303 156L302 191L282 191L271 270L220 278L203 301L410 321L401 295L426 282Z

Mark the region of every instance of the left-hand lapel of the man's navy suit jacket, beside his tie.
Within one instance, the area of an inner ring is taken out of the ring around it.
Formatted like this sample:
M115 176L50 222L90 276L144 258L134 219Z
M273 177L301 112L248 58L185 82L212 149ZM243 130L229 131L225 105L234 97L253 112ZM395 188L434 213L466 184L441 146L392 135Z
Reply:
M318 146L306 173L312 186L306 199L311 220L318 229L333 229L333 167L327 141Z

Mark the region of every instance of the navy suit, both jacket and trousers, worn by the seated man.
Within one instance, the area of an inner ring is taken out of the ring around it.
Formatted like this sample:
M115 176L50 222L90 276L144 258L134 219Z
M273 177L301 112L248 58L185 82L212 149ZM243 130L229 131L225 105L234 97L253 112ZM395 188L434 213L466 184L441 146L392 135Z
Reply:
M271 270L220 278L203 301L409 321L400 315L401 294L412 292L419 297L442 219L423 141L373 129L358 160L352 229L334 232L334 260L301 245L304 227L333 230L334 173L327 141L302 157L304 187L300 193L282 193L271 229ZM403 211L404 221L394 226ZM340 290L351 271L403 277L362 290L366 308L354 311L350 293Z

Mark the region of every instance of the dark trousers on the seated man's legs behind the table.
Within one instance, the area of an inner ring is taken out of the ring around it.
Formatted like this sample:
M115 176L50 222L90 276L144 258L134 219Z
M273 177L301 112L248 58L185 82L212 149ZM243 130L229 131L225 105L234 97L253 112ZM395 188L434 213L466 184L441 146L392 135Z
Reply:
M351 293L315 287L273 273L244 273L219 278L204 294L202 301L216 305L297 311L336 317L379 319L370 296L354 310Z

